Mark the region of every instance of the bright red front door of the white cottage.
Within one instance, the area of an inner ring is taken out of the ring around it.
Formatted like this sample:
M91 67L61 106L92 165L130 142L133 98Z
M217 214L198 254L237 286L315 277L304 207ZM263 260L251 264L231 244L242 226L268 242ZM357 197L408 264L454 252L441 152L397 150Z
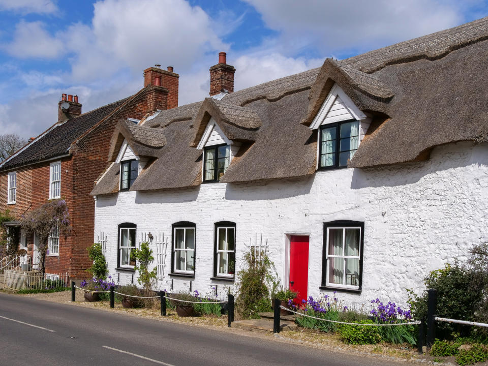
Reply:
M309 237L292 235L290 237L290 290L298 292L295 303L307 299L309 280Z

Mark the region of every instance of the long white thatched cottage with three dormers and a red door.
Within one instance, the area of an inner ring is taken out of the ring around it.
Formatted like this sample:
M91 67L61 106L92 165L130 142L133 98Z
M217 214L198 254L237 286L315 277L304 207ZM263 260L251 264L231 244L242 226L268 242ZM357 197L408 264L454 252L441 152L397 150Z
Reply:
M229 93L234 71L119 120L92 191L119 283L148 240L160 289L225 294L267 243L300 298L405 302L488 239L488 18Z

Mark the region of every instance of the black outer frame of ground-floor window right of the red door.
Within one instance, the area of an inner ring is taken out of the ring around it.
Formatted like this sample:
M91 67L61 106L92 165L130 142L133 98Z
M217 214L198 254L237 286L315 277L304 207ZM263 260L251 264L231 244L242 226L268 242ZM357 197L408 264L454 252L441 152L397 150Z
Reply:
M327 228L329 227L360 227L361 233L359 237L359 284L357 289L353 288L345 288L339 286L327 286ZM364 222L363 221L352 221L352 220L335 220L324 222L324 229L323 229L323 246L322 246L322 282L320 289L322 290L331 290L331 291L340 291L340 292L353 292L353 293L361 293L362 290L362 267L363 267L363 250L364 250Z

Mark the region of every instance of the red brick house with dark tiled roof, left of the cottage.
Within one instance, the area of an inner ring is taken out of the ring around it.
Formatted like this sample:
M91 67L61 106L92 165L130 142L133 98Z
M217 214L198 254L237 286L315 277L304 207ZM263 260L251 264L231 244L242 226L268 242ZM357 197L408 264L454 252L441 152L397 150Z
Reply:
M62 198L70 210L73 235L65 239L53 230L45 272L86 278L90 265L86 249L94 242L95 205L89 193L107 166L116 121L130 118L137 123L177 107L178 78L172 67L150 67L144 70L144 87L139 92L86 113L77 96L63 94L56 123L0 163L0 211L8 209L16 218L4 225L13 234L11 243L27 250L34 268L37 236L26 235L18 220L28 210Z

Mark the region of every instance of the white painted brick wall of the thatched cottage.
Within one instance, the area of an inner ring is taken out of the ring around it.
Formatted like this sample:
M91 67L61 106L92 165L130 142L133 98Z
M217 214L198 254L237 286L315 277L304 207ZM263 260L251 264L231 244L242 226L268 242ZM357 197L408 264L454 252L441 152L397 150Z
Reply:
M284 233L309 233L308 293L316 296L321 292L323 223L364 221L362 293L340 293L340 298L366 304L379 297L405 304L405 289L420 291L428 271L443 267L454 257L465 257L474 243L488 240L487 214L488 144L465 142L436 148L429 161L399 166L328 170L309 178L254 184L203 184L184 190L99 196L95 233L108 235L107 259L111 272L116 272L118 224L133 222L138 232L171 235L172 223L196 223L193 289L203 293L211 284L219 284L219 289L227 286L210 280L215 222L237 223L237 258L246 250L245 243L262 233L282 278ZM171 268L168 254L166 273ZM239 265L238 261L237 268ZM127 282L130 277L121 276L120 280ZM188 288L184 285L188 281L174 279L174 289ZM159 285L169 290L169 284Z

